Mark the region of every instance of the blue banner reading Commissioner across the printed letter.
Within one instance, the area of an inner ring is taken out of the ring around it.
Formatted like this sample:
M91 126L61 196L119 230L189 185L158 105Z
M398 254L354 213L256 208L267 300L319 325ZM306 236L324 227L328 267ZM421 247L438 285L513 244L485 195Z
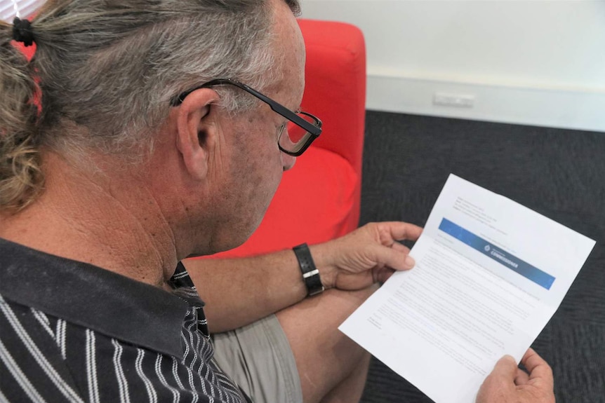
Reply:
M454 238L462 241L466 245L469 245L474 250L478 250L482 254L491 257L491 259L498 261L498 263L510 268L510 270L516 271L524 278L535 282L537 285L540 285L545 289L550 289L552 283L554 282L554 277L552 277L552 275L546 273L545 271L541 271L537 267L531 266L531 264L528 264L526 261L522 261L518 257L512 256L512 254L508 252L504 252L499 247L496 247L483 238L474 235L474 233L467 231L465 228L454 224L448 219L441 219L439 229L444 231L444 233L452 235Z

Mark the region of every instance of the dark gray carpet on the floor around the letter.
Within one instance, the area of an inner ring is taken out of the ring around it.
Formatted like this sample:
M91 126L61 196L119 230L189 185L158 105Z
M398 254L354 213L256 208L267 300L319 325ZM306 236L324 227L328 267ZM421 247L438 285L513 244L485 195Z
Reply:
M597 240L533 347L558 403L605 402L605 133L368 111L361 224L423 225L449 173ZM431 400L373 359L362 402Z

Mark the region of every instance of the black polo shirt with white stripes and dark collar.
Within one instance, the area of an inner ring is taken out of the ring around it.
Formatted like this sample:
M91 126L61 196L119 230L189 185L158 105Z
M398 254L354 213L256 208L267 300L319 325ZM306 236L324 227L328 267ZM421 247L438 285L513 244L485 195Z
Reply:
M0 239L0 402L248 401L182 264L170 284Z

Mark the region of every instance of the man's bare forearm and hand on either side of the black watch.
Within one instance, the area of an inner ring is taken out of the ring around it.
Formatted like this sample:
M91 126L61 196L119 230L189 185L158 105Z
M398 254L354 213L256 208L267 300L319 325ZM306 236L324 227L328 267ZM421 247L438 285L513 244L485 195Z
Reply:
M413 266L409 250L395 242L415 240L412 224L366 224L342 238L310 246L326 289L354 291L385 281L395 270ZM211 332L225 332L276 313L307 296L292 250L244 259L186 260L199 294L206 301Z

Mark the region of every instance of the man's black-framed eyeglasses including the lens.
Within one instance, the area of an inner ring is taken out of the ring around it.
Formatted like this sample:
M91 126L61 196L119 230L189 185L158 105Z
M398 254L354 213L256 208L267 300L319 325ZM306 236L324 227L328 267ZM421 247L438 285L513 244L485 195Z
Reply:
M180 93L173 97L170 101L171 106L178 107L185 100L187 95L199 90L200 88L208 88L213 86L236 86L257 97L274 111L288 119L287 123L281 125L279 128L279 137L277 144L279 149L291 156L298 157L304 153L307 148L311 145L314 139L317 139L321 135L321 121L319 118L306 112L293 112L290 109L284 107L284 105L275 102L270 97L262 95L257 90L246 86L246 84L240 83L239 81L230 80L229 78L217 78L208 83L204 83L201 86L187 90L184 93ZM286 135L284 135L284 132Z

